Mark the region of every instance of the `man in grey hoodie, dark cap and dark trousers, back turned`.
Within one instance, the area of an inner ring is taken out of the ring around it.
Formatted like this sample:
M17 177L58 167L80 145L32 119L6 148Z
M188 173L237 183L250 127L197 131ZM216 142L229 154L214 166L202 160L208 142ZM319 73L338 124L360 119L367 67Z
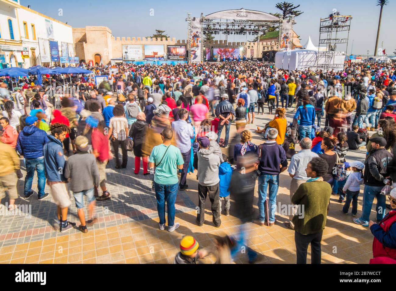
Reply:
M205 202L209 195L213 223L220 227L220 192L219 192L219 166L220 157L217 154L203 155L201 151L208 150L210 141L208 137L198 137L200 150L194 156L194 168L198 170L198 207L196 223L202 226L205 222Z

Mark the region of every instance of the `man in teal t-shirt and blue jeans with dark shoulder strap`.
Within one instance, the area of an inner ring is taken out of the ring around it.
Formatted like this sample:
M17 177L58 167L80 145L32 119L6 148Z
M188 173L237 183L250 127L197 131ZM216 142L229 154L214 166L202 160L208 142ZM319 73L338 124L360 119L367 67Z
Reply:
M168 230L172 232L180 226L175 223L175 202L179 178L177 169L183 169L183 156L179 148L171 145L173 132L166 128L161 133L162 144L154 146L148 162L150 169L154 169L154 188L157 198L158 217L160 218L160 230L165 229L165 202L168 210Z

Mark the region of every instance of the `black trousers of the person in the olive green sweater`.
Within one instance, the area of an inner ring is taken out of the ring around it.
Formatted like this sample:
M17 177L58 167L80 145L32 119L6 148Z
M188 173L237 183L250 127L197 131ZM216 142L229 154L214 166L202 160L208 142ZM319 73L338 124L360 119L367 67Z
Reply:
M297 264L307 264L307 250L309 244L311 244L311 264L320 264L322 259L322 250L320 248L322 233L323 230L315 234L301 234L297 231L294 232L294 241L297 250Z

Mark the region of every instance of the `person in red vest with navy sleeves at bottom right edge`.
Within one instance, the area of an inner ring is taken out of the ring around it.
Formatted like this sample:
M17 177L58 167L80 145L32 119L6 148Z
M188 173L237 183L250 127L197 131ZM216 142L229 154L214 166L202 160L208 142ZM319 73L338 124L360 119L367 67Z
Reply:
M374 259L370 260L370 264L389 261L379 258L396 260L396 188L390 192L388 198L390 200L390 207L392 208L388 214L378 224L369 221L369 227L374 236Z

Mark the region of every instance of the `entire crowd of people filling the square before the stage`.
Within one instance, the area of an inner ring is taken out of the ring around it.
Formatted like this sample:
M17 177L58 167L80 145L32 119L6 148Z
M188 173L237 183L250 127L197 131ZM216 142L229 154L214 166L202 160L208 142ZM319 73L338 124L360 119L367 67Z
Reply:
M139 174L142 165L143 175L154 174L148 179L153 181L160 230L167 226L173 232L179 227L177 192L189 188L188 173L194 171L196 224L205 223L208 196L215 227L221 226L221 215L231 214L242 222L239 234L219 237L214 249L198 251L194 237L183 237L175 263L196 263L211 252L218 262L232 262L240 246L246 245L246 223L263 227L278 223L280 174L287 170L292 211L284 225L295 231L297 263L307 262L308 245L311 262L321 262L331 195L344 204L346 215L352 202L351 214L356 217L362 184L363 210L353 222L370 227L373 262L396 260L394 67L356 64L339 72L288 71L258 61L231 60L117 68L116 73L109 66L91 68L108 76L100 84L89 75L65 79L47 75L43 84L37 84L36 76L2 79L0 184L10 211L19 197L34 196L36 171L37 199L49 196L48 185L58 207L54 228L66 232L76 227L68 221L70 191L78 209L78 229L86 233L87 226L98 221L95 201L111 199L107 164L113 160L115 169L126 168L128 151L133 151L133 173ZM272 120L257 124L255 117L264 111ZM292 122L287 122L287 114L293 115ZM252 129L249 124L259 126ZM230 137L234 125L236 134ZM252 142L254 133L263 140L261 145ZM351 161L350 150L364 162ZM22 157L26 175L23 193L18 193ZM370 220L374 198L375 222ZM247 255L249 262L257 259L250 248Z

